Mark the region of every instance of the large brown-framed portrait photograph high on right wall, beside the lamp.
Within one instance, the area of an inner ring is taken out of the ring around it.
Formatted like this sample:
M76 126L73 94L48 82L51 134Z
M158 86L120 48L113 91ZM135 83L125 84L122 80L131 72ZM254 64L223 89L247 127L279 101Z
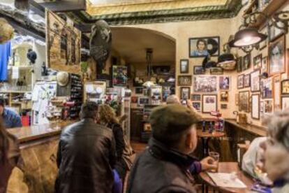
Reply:
M285 72L285 36L269 44L269 76Z

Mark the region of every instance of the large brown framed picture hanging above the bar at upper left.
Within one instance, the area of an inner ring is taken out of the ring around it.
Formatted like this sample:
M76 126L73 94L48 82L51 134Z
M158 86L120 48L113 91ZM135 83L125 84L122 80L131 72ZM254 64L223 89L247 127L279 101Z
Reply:
M81 31L71 20L63 20L50 10L45 12L47 64L50 69L81 73Z

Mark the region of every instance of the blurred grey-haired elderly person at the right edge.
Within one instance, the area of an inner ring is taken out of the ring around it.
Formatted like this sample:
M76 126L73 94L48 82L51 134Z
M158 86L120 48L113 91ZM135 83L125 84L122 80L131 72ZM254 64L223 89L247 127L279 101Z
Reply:
M289 109L274 113L265 123L268 138L260 144L262 169L274 182L272 192L289 192Z

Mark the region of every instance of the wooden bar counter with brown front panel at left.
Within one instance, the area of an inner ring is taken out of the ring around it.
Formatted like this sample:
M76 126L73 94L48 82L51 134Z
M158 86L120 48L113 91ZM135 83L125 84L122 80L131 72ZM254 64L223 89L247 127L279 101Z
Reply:
M22 163L13 169L7 192L54 192L59 136L61 129L72 123L62 121L8 129L19 139Z

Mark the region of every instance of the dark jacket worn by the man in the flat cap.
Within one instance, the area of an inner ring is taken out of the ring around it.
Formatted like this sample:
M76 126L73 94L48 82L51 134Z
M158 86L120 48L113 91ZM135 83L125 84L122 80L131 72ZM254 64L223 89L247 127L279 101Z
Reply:
M149 148L133 164L128 179L129 193L195 192L188 171L195 159L170 150L151 138Z

